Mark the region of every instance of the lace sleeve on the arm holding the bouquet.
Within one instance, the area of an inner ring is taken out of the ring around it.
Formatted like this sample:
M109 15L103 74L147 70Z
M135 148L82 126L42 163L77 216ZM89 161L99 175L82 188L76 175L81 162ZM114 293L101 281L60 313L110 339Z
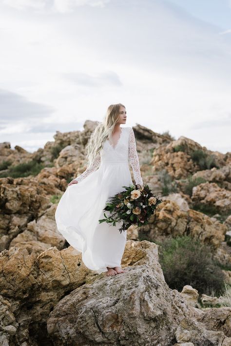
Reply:
M133 128L129 128L129 162L133 169L135 184L143 185L143 180L140 174L139 158L136 151L135 134Z

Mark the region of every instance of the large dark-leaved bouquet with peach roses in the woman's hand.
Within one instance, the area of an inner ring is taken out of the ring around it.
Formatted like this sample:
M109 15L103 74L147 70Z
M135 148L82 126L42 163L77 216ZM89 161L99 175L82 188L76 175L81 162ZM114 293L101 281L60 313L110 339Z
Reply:
M157 210L158 205L163 202L157 195L153 195L149 186L137 189L137 185L122 186L125 191L118 192L113 197L109 197L109 202L103 209L109 211L105 219L98 220L99 223L107 222L116 226L116 222L123 221L119 232L125 231L131 225L138 227L146 225L152 214Z

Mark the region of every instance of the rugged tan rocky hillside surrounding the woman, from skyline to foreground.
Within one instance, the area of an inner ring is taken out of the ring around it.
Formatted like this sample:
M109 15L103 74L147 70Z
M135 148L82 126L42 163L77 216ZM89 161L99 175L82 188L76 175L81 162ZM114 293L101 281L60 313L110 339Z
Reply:
M107 277L84 266L54 218L68 182L86 169L96 125L87 120L83 131L57 132L32 154L0 143L0 173L31 160L46 166L36 176L0 178L0 345L231 346L223 297L169 288L154 243L191 235L209 244L231 285L231 153L136 124L141 175L163 203L148 225L129 228L125 272Z

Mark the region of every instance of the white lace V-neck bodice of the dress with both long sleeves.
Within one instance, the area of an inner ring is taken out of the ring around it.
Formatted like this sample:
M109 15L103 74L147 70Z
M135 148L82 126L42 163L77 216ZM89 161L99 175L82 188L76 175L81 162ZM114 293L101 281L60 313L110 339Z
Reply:
M132 127L121 128L121 134L115 147L110 144L108 140L106 140L103 143L100 154L95 157L92 165L87 168L82 174L77 176L75 180L80 182L89 174L96 171L100 164L119 164L120 162L130 162L133 169L135 184L143 185L143 180L140 174L138 154L136 151L135 134Z

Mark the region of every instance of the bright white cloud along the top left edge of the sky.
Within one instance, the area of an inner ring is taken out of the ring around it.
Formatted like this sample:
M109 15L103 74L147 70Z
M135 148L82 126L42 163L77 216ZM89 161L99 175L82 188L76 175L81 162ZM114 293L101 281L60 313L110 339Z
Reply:
M35 10L67 13L79 6L104 7L110 0L3 0L4 5L17 10Z

